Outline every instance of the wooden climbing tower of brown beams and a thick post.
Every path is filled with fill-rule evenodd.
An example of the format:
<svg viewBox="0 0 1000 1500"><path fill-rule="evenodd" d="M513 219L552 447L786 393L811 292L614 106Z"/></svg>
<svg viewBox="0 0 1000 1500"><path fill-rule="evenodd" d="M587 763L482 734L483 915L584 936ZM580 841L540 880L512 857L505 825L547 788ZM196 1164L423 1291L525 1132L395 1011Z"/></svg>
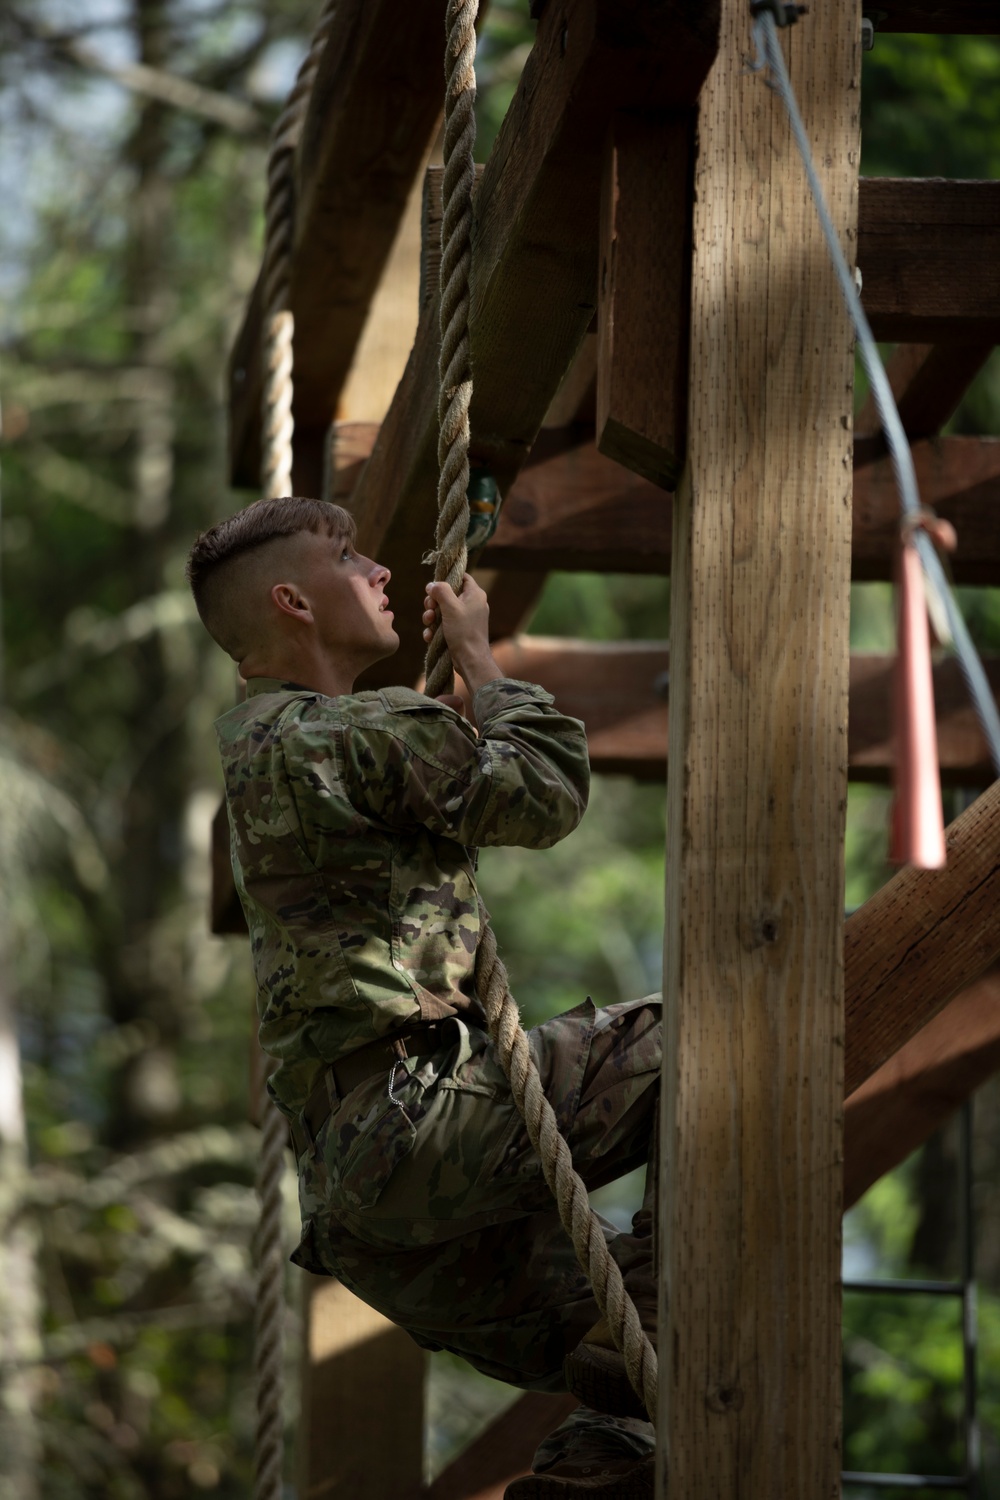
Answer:
<svg viewBox="0 0 1000 1500"><path fill-rule="evenodd" d="M594 768L667 776L661 1492L828 1500L844 1202L1000 1065L1000 798L949 830L946 872L844 924L847 777L892 760L889 662L852 658L849 588L891 576L898 501L748 4L532 14L475 196L472 447L507 496L478 576L498 658L585 720ZM939 436L1000 339L1000 183L859 183L861 21L811 0L790 74L955 576L1000 584L1000 441ZM991 32L996 6L882 0L879 24ZM294 489L325 471L411 622L363 686L423 662L442 28L442 0L342 0L297 158ZM231 362L247 488L259 344L258 285ZM519 636L550 570L670 574L670 646ZM936 690L943 774L990 783L954 663ZM342 1288L312 1302L304 1497L499 1497L565 1410L522 1398L421 1491L418 1356Z"/></svg>

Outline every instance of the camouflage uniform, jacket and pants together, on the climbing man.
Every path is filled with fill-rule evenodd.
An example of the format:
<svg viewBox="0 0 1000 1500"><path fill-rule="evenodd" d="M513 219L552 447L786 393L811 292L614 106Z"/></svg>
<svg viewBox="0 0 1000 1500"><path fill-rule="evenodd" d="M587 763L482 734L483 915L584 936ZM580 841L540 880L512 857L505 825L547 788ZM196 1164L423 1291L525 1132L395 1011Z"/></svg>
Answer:
<svg viewBox="0 0 1000 1500"><path fill-rule="evenodd" d="M295 1120L324 1076L331 1090L298 1158L292 1258L426 1348L559 1390L597 1308L483 1029L471 849L565 837L586 806L586 740L522 682L487 682L475 714L478 736L406 688L325 698L250 681L217 724L234 873L274 1100ZM445 1018L438 1053L337 1096L327 1064ZM643 1162L657 998L588 999L535 1028L531 1047L588 1186ZM631 1286L648 1282L649 1227L646 1212L630 1234L606 1227Z"/></svg>

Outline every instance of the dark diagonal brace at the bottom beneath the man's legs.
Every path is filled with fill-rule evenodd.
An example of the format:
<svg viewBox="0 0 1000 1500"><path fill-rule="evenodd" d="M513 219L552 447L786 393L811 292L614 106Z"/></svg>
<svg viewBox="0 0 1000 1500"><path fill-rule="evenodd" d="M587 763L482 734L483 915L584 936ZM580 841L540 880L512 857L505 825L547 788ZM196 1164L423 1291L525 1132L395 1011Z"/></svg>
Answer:
<svg viewBox="0 0 1000 1500"><path fill-rule="evenodd" d="M406 1500L504 1500L513 1479L531 1473L535 1449L579 1402L574 1396L528 1392L474 1438L432 1485Z"/></svg>

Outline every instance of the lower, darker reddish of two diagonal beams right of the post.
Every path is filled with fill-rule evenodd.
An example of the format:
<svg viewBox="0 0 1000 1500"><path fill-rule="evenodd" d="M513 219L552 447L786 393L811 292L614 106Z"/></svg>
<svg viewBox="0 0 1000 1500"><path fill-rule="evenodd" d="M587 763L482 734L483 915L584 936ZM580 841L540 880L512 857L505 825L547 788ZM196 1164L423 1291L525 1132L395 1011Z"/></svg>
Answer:
<svg viewBox="0 0 1000 1500"><path fill-rule="evenodd" d="M844 1209L906 1161L999 1070L1000 969L993 969L960 990L847 1100Z"/></svg>

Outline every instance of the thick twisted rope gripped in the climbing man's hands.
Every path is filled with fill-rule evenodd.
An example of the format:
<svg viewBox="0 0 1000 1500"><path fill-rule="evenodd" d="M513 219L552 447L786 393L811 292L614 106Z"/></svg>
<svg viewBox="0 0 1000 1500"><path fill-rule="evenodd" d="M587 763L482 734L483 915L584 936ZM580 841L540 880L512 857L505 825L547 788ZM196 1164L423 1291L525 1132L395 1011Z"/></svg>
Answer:
<svg viewBox="0 0 1000 1500"><path fill-rule="evenodd" d="M438 531L435 579L457 592L468 564L469 504L469 267L472 262L472 186L475 171L475 18L478 0L448 0L445 44L444 214L441 225L441 394L438 404ZM426 688L430 696L453 684L453 668L441 627L427 646ZM604 1232L592 1212L586 1186L559 1134L555 1112L544 1095L538 1068L510 993L507 969L496 951L489 914L480 900L481 938L475 956L475 984L501 1066L520 1110L528 1138L541 1161L546 1182L573 1240L577 1260L591 1280L594 1296L607 1317L625 1368L652 1419L657 1413L657 1353L646 1338L639 1312L625 1292Z"/></svg>

